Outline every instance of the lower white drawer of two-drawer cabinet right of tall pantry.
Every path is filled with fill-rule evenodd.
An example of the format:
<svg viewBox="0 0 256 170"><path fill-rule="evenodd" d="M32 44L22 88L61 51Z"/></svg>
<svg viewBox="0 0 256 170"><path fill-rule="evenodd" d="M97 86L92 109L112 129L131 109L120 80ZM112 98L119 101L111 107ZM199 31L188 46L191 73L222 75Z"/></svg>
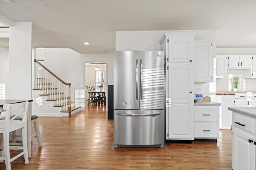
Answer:
<svg viewBox="0 0 256 170"><path fill-rule="evenodd" d="M194 123L194 138L219 138L219 123Z"/></svg>

